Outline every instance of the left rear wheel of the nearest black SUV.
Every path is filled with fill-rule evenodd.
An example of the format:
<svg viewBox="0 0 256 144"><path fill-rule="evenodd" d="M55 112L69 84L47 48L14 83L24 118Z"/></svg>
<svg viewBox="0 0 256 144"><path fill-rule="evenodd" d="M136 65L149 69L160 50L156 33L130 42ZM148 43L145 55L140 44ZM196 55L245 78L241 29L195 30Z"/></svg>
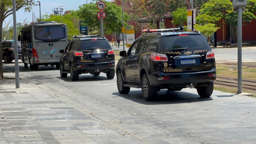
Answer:
<svg viewBox="0 0 256 144"><path fill-rule="evenodd" d="M142 95L146 101L153 101L157 96L157 87L151 86L149 78L145 73L141 79Z"/></svg>

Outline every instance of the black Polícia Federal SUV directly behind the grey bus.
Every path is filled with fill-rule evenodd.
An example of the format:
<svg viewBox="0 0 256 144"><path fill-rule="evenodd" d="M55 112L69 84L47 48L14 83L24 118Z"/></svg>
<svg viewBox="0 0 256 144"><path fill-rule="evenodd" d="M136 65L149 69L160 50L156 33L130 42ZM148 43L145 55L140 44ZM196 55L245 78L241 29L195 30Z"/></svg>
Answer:
<svg viewBox="0 0 256 144"><path fill-rule="evenodd" d="M106 73L108 79L115 76L114 50L104 37L74 36L60 57L60 76L70 73L72 81L77 81L79 74L90 73L99 76Z"/></svg>

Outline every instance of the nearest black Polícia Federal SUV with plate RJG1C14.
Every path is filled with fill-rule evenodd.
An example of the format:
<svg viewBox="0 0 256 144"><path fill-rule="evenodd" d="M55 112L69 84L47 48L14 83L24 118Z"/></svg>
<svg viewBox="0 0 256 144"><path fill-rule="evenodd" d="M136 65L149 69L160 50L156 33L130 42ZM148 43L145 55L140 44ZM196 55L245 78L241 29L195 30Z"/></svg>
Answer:
<svg viewBox="0 0 256 144"><path fill-rule="evenodd" d="M160 89L180 91L196 88L199 96L210 97L216 79L214 52L198 31L176 29L143 30L116 66L117 87L121 94L130 87L141 88L146 101Z"/></svg>

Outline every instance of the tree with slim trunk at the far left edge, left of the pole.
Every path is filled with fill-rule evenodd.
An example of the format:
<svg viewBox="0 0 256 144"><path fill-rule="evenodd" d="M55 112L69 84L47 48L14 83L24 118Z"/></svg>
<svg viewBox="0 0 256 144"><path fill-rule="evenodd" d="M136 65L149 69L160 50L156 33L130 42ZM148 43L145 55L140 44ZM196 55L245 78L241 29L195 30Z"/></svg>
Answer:
<svg viewBox="0 0 256 144"><path fill-rule="evenodd" d="M34 4L34 0L16 0L16 11L23 8L24 11L30 11L31 6ZM13 14L13 3L12 0L0 0L0 42L2 41L2 29L3 21L9 15ZM2 43L0 43L0 48ZM3 79L3 57L2 51L0 51L0 79Z"/></svg>

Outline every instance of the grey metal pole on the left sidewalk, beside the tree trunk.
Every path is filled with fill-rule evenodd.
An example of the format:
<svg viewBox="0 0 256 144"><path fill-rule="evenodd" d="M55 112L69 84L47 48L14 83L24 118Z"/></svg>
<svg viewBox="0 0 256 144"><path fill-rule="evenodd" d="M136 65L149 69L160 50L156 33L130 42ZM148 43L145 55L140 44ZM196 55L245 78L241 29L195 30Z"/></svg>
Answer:
<svg viewBox="0 0 256 144"><path fill-rule="evenodd" d="M13 0L13 39L14 39L14 59L15 59L15 84L16 84L16 88L20 88L15 0Z"/></svg>

